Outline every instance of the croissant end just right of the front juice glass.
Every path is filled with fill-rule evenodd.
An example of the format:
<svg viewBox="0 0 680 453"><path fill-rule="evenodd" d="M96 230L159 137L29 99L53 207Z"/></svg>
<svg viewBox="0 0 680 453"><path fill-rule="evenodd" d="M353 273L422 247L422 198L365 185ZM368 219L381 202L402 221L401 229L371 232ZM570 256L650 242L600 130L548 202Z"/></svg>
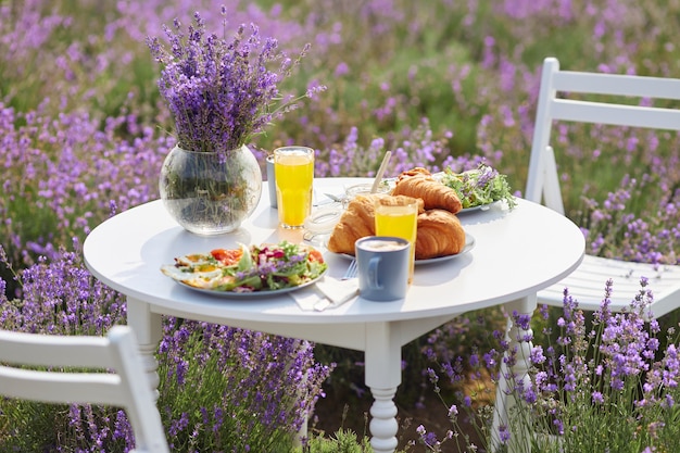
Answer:
<svg viewBox="0 0 680 453"><path fill-rule="evenodd" d="M429 210L418 215L416 260L458 254L464 247L465 230L454 214Z"/></svg>

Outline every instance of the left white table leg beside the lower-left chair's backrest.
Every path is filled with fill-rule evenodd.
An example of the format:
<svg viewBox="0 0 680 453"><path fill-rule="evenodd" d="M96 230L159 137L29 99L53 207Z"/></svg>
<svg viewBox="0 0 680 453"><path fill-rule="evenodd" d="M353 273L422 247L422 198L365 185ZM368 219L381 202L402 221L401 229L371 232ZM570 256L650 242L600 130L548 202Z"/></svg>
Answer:
<svg viewBox="0 0 680 453"><path fill-rule="evenodd" d="M153 390L153 394L158 400L161 380L159 378L159 363L155 360L155 353L163 337L161 315L151 313L149 304L128 297L127 324L135 331L144 372L147 372L149 378L149 386L151 386L151 390Z"/></svg>

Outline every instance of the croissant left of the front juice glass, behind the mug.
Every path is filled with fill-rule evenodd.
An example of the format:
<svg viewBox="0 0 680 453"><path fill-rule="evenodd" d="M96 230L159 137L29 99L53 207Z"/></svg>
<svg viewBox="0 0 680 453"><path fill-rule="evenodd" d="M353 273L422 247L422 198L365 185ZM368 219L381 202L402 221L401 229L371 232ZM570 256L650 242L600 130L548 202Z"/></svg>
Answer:
<svg viewBox="0 0 680 453"><path fill-rule="evenodd" d="M385 194L354 197L330 234L328 244L326 246L329 251L353 255L354 242L357 239L376 234L374 207L376 197L380 197L387 202L392 200L394 203L398 203L400 198L406 198L404 196L392 197ZM423 206L423 200L418 200L418 214L424 212Z"/></svg>

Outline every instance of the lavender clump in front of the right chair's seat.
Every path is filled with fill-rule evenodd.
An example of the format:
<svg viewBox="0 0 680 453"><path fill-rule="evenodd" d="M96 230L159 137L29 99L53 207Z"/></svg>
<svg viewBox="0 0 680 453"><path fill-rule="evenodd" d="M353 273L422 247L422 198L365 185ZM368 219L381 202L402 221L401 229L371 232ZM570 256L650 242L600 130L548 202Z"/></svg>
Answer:
<svg viewBox="0 0 680 453"><path fill-rule="evenodd" d="M601 310L593 314L592 329L578 302L565 290L557 347L549 345L544 351L536 347L527 357L533 365L532 385L515 387L527 406L511 424L513 429L522 429L530 423L532 429L554 433L558 438L555 449L564 450L547 444L533 448L576 451L588 445L596 451L628 451L630 442L658 445L676 439L677 430L667 430L663 421L672 417L678 395L676 345L670 343L659 351L655 337L658 323L644 320L652 302L648 282L643 278L640 285L629 310L612 314L608 298L613 281L608 280ZM615 430L607 428L613 426ZM600 436L603 429L609 429L607 439Z"/></svg>

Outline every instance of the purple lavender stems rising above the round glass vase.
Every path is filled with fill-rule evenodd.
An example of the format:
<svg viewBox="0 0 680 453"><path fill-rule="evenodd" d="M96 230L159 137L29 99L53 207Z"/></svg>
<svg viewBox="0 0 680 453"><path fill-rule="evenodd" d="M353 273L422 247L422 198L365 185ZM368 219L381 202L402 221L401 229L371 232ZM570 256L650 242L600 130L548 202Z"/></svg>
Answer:
<svg viewBox="0 0 680 453"><path fill-rule="evenodd" d="M222 9L226 16L226 9ZM159 89L173 118L181 148L201 152L227 152L247 144L276 117L293 110L299 99L284 97L278 85L290 76L293 66L306 54L305 46L292 61L278 49L273 38L264 41L251 24L241 25L229 40L227 20L224 35L209 34L197 12L185 34L181 23L174 32L165 27L169 49L158 37L148 38L152 55L163 64ZM276 71L270 70L278 64ZM304 96L311 97L312 89Z"/></svg>

